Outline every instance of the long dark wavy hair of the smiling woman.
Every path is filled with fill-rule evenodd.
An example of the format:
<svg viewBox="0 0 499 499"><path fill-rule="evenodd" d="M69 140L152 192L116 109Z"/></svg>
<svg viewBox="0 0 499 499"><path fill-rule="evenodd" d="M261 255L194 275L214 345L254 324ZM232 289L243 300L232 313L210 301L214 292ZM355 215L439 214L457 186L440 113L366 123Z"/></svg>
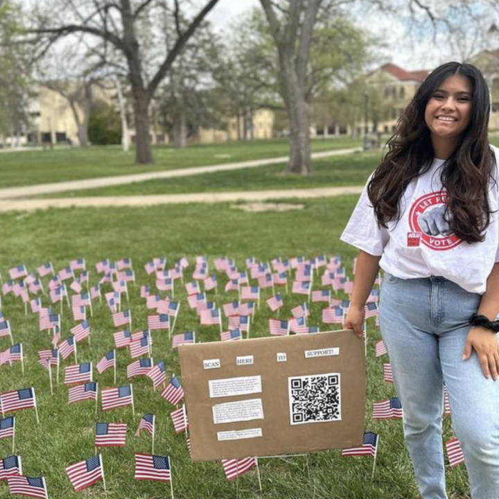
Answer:
<svg viewBox="0 0 499 499"><path fill-rule="evenodd" d="M441 182L448 193L446 220L467 243L484 240L491 210L487 193L495 160L489 146L489 89L482 73L471 64L447 62L432 71L417 90L387 142L388 152L367 186L378 225L401 217L401 198L408 184L432 165L433 148L425 122L428 100L446 78L460 75L472 89L471 119L455 151L441 168Z"/></svg>

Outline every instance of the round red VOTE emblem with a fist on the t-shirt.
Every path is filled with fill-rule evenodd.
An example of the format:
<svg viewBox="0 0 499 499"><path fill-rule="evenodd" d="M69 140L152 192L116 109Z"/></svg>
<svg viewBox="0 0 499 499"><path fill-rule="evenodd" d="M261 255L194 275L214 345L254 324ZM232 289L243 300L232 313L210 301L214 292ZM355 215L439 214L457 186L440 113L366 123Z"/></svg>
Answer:
<svg viewBox="0 0 499 499"><path fill-rule="evenodd" d="M460 245L445 216L448 195L445 191L426 194L412 204L409 211L409 227L412 232L421 233L421 244L444 251Z"/></svg>

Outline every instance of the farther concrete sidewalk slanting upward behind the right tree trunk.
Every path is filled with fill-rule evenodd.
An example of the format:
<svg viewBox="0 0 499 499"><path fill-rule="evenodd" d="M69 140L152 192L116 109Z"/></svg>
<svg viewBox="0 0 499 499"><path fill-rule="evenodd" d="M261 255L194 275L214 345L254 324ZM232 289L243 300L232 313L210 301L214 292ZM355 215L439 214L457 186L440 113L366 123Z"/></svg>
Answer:
<svg viewBox="0 0 499 499"><path fill-rule="evenodd" d="M338 149L324 152L315 152L313 159L338 156L358 152L362 148ZM256 168L268 164L286 163L288 156L269 159L256 159L253 161L240 161L238 163L218 164L212 166L194 166L193 168L178 168L177 170L166 170L149 173L136 173L132 175L117 175L116 177L101 177L88 180L71 180L69 182L54 182L51 184L37 184L33 186L11 187L0 189L0 200L29 198L30 196L42 194L54 194L67 191L82 191L85 189L98 189L99 187L132 184L146 180L156 180L175 177L187 177L189 175L200 175L202 173L213 173L218 171L239 170L240 168Z"/></svg>

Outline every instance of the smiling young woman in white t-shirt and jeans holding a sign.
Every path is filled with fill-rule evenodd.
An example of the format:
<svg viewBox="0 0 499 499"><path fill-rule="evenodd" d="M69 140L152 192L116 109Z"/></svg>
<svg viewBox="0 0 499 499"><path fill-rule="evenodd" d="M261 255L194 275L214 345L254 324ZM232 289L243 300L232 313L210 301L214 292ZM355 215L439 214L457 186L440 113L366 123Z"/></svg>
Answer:
<svg viewBox="0 0 499 499"><path fill-rule="evenodd" d="M487 138L489 107L475 67L432 71L342 234L360 249L344 320L360 338L384 270L380 331L425 499L447 498L444 383L471 497L499 498L499 150Z"/></svg>

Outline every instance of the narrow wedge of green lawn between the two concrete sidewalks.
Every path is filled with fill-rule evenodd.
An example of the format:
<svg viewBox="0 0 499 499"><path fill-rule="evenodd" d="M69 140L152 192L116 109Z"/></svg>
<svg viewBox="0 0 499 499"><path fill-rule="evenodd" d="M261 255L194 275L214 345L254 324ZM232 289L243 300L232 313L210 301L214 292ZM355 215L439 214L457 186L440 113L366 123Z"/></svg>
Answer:
<svg viewBox="0 0 499 499"><path fill-rule="evenodd" d="M121 186L102 187L55 194L42 198L71 196L180 194L224 191L265 191L311 187L362 185L380 161L380 152L355 152L313 161L313 175L289 175L284 164L243 168L225 172L149 180Z"/></svg>

